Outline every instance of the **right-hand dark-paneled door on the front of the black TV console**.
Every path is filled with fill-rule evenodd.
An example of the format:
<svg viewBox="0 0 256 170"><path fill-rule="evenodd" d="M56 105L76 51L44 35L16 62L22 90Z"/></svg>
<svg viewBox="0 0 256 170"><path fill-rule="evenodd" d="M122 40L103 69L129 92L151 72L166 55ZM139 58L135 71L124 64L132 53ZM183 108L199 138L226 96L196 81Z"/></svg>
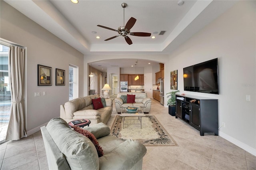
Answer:
<svg viewBox="0 0 256 170"><path fill-rule="evenodd" d="M194 105L190 104L190 125L193 127L197 128L198 130L200 129L200 106L199 105Z"/></svg>

